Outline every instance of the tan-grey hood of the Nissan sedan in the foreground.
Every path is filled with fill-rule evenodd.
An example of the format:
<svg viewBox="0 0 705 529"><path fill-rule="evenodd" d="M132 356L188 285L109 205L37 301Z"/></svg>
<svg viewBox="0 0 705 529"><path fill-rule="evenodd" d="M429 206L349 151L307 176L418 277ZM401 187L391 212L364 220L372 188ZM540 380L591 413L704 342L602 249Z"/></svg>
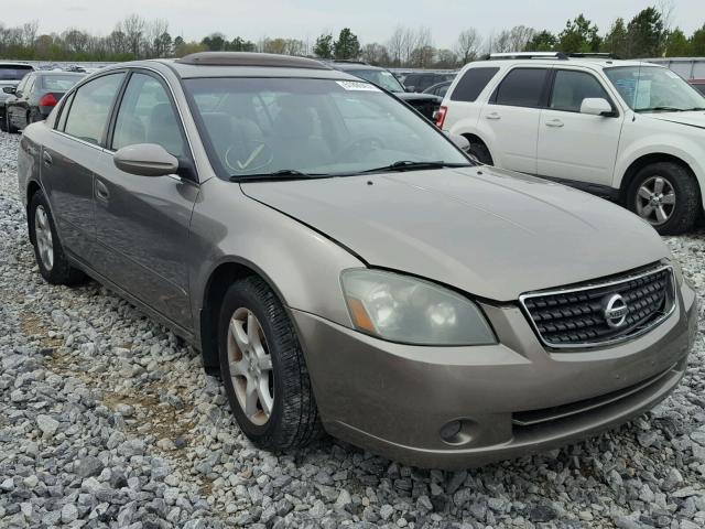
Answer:
<svg viewBox="0 0 705 529"><path fill-rule="evenodd" d="M371 267L497 301L670 256L615 204L487 166L241 185Z"/></svg>

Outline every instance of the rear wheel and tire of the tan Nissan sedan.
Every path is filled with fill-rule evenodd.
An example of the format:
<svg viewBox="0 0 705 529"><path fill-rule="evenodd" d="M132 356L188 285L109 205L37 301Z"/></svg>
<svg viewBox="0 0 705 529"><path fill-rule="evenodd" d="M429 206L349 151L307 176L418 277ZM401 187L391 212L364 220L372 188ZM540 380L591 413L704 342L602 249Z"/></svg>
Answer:
<svg viewBox="0 0 705 529"><path fill-rule="evenodd" d="M28 209L30 237L34 246L34 258L42 277L52 284L77 284L86 279L78 269L70 266L62 247L54 217L44 193L37 191Z"/></svg>

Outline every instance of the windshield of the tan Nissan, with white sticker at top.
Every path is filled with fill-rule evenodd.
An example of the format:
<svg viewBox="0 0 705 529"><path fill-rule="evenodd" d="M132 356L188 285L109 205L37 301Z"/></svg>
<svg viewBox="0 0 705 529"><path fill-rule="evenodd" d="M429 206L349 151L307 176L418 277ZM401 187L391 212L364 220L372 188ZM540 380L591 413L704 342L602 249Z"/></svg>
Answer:
<svg viewBox="0 0 705 529"><path fill-rule="evenodd" d="M185 86L212 163L228 177L470 163L433 126L369 83L235 77L185 79Z"/></svg>

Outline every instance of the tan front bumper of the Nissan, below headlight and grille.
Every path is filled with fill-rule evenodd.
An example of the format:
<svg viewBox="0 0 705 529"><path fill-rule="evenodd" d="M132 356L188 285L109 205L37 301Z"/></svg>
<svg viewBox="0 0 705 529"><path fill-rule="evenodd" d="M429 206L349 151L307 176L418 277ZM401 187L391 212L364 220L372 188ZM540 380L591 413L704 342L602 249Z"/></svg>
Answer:
<svg viewBox="0 0 705 529"><path fill-rule="evenodd" d="M392 344L293 310L324 428L422 467L541 452L621 424L665 398L685 371L697 325L686 284L661 325L604 349L550 352L518 306L482 310L498 345ZM444 440L452 421L460 431Z"/></svg>

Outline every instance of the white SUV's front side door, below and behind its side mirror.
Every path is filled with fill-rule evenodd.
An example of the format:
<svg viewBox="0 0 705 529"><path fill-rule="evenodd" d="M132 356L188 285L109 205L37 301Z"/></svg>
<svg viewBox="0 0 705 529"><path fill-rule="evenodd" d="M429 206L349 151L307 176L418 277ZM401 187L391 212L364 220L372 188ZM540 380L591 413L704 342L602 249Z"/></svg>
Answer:
<svg viewBox="0 0 705 529"><path fill-rule="evenodd" d="M623 114L590 72L556 68L539 126L541 176L611 185ZM614 116L581 114L585 98L603 98Z"/></svg>

